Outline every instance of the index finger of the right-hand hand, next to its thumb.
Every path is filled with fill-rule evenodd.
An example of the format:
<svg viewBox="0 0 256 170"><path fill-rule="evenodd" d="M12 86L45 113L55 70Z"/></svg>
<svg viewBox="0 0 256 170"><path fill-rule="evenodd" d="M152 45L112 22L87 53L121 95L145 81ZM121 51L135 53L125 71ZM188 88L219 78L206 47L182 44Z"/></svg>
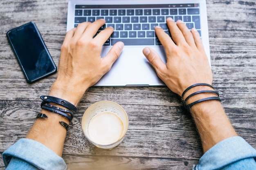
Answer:
<svg viewBox="0 0 256 170"><path fill-rule="evenodd" d="M155 26L155 34L157 35L157 38L159 39L161 44L164 46L166 52L169 52L169 47L175 46L175 43L173 42L171 37L166 34L160 26Z"/></svg>

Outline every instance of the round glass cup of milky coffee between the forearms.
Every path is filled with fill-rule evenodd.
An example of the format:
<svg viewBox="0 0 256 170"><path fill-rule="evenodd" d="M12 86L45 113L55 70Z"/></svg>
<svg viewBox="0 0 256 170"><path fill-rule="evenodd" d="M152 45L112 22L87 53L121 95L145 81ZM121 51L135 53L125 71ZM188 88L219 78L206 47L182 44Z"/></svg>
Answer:
<svg viewBox="0 0 256 170"><path fill-rule="evenodd" d="M119 145L126 135L128 124L124 108L110 101L92 104L83 114L81 122L88 141L103 149Z"/></svg>

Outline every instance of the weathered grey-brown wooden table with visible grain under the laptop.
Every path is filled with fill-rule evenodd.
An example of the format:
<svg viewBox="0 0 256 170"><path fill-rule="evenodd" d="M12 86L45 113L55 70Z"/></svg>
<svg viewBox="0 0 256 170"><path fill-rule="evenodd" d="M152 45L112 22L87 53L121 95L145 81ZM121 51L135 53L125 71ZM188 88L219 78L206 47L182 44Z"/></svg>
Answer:
<svg viewBox="0 0 256 170"><path fill-rule="evenodd" d="M256 3L255 0L207 0L213 86L238 132L256 148ZM0 0L0 169L2 152L25 137L40 112L56 75L25 82L6 32L34 21L58 64L66 32L67 0ZM83 136L81 118L91 104L110 100L130 120L124 141L102 150ZM193 119L166 86L91 87L79 104L67 133L63 159L71 170L110 164L130 169L191 170L202 156Z"/></svg>

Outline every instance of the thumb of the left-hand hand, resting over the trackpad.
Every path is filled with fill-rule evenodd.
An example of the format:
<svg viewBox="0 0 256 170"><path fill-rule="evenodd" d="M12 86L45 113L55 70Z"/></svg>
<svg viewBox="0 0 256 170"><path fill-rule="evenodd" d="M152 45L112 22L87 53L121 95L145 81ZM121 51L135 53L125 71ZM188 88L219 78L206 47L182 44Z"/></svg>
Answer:
<svg viewBox="0 0 256 170"><path fill-rule="evenodd" d="M124 43L123 42L117 42L116 44L114 44L112 46L110 51L108 51L108 54L101 59L102 63L103 63L103 71L105 73L110 70L112 64L120 56L123 48L124 48Z"/></svg>

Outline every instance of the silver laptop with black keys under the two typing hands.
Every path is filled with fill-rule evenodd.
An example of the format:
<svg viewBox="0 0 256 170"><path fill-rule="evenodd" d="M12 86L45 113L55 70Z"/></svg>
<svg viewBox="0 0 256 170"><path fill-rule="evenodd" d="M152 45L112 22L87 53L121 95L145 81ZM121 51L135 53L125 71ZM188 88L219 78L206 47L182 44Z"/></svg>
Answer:
<svg viewBox="0 0 256 170"><path fill-rule="evenodd" d="M168 17L182 20L189 29L198 30L211 65L206 0L69 0L67 31L81 22L103 18L106 24L99 31L112 26L114 32L103 45L101 56L116 42L125 44L111 70L94 86L161 86L165 84L142 50L150 47L166 62L154 27L159 25L170 35L166 26Z"/></svg>

